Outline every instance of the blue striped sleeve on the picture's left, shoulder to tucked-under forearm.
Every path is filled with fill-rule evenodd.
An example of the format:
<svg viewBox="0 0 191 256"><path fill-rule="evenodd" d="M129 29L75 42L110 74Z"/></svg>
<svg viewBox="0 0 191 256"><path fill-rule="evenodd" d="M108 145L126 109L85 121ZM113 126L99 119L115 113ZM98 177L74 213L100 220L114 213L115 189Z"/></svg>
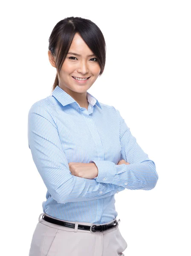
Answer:
<svg viewBox="0 0 191 256"><path fill-rule="evenodd" d="M71 174L49 106L34 104L28 114L28 142L35 166L58 203L89 201L117 192L118 186Z"/></svg>

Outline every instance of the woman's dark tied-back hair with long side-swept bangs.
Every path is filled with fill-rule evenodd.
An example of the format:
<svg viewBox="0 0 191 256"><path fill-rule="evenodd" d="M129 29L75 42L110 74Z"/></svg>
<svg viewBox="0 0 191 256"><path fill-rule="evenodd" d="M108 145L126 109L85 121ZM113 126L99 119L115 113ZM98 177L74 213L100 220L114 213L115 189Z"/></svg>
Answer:
<svg viewBox="0 0 191 256"><path fill-rule="evenodd" d="M69 51L69 47L72 44L72 40L76 32L81 35L85 43L96 55L98 64L101 68L99 76L101 76L104 71L106 62L106 44L101 30L91 20L81 17L67 17L64 20L60 20L55 25L49 37L48 49L56 58L55 61L57 70L52 91L58 85L58 74L60 74L62 64L66 58L67 52Z"/></svg>

